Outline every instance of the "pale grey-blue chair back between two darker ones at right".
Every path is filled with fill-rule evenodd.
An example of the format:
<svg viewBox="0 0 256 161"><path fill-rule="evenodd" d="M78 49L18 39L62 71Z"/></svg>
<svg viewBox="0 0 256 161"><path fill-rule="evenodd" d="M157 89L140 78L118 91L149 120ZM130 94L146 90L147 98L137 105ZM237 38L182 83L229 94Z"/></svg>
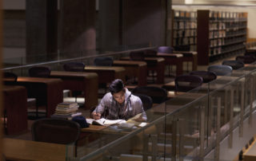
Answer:
<svg viewBox="0 0 256 161"><path fill-rule="evenodd" d="M217 76L226 76L230 75L233 69L229 65L210 65L207 70L214 72Z"/></svg>

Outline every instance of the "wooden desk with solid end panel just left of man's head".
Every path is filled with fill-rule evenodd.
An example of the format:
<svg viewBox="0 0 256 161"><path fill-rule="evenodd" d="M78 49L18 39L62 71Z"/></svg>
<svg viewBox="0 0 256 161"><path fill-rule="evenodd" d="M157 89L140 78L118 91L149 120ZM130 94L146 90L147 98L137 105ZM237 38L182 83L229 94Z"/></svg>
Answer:
<svg viewBox="0 0 256 161"><path fill-rule="evenodd" d="M83 91L84 108L90 109L98 104L98 75L96 73L52 71L50 77L61 78L64 89Z"/></svg>

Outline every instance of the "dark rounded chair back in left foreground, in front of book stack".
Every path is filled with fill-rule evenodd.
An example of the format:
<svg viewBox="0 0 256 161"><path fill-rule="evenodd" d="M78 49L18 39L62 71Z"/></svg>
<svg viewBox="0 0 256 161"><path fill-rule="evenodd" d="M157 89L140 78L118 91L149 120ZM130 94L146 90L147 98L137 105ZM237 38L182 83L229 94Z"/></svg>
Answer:
<svg viewBox="0 0 256 161"><path fill-rule="evenodd" d="M35 120L31 126L32 139L46 143L75 143L80 125L72 120L45 118Z"/></svg>

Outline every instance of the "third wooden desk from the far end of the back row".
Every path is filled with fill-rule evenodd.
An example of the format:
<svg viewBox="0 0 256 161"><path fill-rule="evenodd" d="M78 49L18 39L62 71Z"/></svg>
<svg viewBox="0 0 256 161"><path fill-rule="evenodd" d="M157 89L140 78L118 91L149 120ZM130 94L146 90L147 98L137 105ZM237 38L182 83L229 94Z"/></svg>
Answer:
<svg viewBox="0 0 256 161"><path fill-rule="evenodd" d="M130 61L130 57L121 57L121 61ZM157 83L163 84L165 78L165 59L162 57L145 57L147 71L156 71Z"/></svg>

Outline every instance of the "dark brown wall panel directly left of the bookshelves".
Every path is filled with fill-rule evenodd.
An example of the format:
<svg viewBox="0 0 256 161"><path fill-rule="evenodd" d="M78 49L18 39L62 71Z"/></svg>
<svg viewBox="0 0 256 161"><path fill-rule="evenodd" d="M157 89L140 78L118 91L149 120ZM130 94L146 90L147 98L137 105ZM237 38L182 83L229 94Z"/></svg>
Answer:
<svg viewBox="0 0 256 161"><path fill-rule="evenodd" d="M126 0L123 2L123 43L165 45L166 1Z"/></svg>

